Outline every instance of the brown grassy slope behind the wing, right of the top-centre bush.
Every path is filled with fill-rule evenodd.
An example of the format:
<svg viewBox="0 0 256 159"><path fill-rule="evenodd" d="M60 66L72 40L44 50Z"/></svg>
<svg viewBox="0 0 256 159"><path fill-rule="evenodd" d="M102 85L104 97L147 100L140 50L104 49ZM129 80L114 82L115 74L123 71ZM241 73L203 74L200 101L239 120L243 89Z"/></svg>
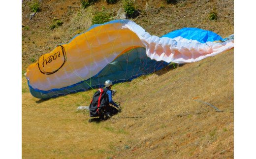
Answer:
<svg viewBox="0 0 256 159"><path fill-rule="evenodd" d="M144 8L137 3L142 14L134 22L153 35L162 36L185 27L210 30L223 37L234 32L233 0L179 0L176 4L168 5L165 0L149 0L148 4ZM218 20L208 18L213 8L218 8Z"/></svg>

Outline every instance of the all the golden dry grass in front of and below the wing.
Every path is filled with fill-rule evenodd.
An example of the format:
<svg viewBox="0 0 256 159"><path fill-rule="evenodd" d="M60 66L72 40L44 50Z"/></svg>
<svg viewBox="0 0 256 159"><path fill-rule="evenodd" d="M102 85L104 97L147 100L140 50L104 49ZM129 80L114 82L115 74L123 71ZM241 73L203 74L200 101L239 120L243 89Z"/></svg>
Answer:
<svg viewBox="0 0 256 159"><path fill-rule="evenodd" d="M233 158L233 50L114 85L122 112L99 124L76 111L94 90L41 101L22 83L23 158Z"/></svg>

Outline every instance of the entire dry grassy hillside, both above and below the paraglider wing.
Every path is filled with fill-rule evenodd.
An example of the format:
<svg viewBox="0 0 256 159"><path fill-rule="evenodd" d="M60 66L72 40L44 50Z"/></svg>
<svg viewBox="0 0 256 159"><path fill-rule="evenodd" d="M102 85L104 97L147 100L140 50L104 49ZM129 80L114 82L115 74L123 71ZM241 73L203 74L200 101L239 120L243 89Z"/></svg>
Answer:
<svg viewBox="0 0 256 159"><path fill-rule="evenodd" d="M85 32L96 10L116 14L122 6L99 0L86 9L80 0L42 0L29 20L22 3L22 70L40 55ZM141 14L131 19L152 35L184 27L233 33L233 1L135 0ZM209 20L216 7L219 18ZM51 30L53 19L64 24ZM88 123L95 90L40 100L33 97L22 74L22 158L233 158L233 49L192 64L170 65L131 82L113 86L122 110L110 120ZM223 112L217 112L210 103Z"/></svg>

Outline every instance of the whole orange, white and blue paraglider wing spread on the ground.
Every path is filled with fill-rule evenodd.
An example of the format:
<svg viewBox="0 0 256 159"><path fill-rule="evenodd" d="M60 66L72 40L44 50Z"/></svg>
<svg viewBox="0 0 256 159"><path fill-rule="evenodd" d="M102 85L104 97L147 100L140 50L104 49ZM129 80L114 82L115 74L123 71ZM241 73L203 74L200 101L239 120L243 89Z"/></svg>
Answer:
<svg viewBox="0 0 256 159"><path fill-rule="evenodd" d="M132 21L114 20L42 55L26 78L33 96L51 98L100 88L105 80L130 81L170 62L197 62L231 48L233 39L224 41L210 31L185 28L158 37Z"/></svg>

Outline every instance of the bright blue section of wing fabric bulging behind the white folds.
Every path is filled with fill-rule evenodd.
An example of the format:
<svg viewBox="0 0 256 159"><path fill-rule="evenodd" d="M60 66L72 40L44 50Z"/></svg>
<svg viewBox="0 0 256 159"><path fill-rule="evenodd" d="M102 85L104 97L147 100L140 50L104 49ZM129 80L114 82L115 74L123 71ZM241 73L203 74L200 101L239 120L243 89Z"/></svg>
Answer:
<svg viewBox="0 0 256 159"><path fill-rule="evenodd" d="M198 29L198 28L183 28L180 30L169 32L161 37L174 38L177 36L181 36L186 39L197 40L201 43L206 43L208 41L223 40L223 38L217 33Z"/></svg>

